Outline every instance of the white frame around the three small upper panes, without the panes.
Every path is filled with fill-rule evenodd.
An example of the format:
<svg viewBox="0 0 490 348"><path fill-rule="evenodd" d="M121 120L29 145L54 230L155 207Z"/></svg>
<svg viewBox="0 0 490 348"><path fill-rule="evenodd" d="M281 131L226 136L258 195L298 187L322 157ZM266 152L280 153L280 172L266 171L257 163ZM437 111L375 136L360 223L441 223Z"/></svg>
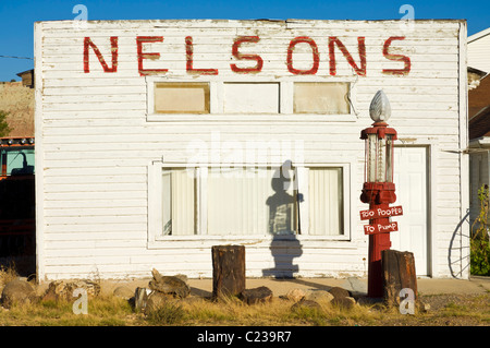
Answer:
<svg viewBox="0 0 490 348"><path fill-rule="evenodd" d="M172 80L162 76L145 76L146 82L146 120L147 122L175 121L271 121L271 122L355 122L357 120L357 79L355 76L339 76L324 79L322 76L283 76L250 79L217 79L216 76L199 76L193 80ZM155 88L158 83L209 83L209 113L161 113L155 112ZM225 113L224 84L225 83L278 83L279 112L278 113ZM350 113L294 113L294 83L347 83L350 98Z"/></svg>

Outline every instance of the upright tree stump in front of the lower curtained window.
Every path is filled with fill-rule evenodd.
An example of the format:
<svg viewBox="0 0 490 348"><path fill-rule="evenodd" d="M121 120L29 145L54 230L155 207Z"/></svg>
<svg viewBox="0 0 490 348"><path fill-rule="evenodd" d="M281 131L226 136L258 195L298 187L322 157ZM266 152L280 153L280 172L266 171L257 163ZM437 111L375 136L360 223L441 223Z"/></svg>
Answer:
<svg viewBox="0 0 490 348"><path fill-rule="evenodd" d="M212 296L238 296L245 290L245 247L213 245Z"/></svg>

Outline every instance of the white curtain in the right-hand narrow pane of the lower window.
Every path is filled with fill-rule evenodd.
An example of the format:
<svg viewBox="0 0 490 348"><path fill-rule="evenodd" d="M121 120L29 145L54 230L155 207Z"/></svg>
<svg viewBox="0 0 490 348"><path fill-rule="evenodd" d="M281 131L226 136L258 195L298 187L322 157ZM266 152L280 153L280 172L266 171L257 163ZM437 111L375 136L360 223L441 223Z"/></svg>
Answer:
<svg viewBox="0 0 490 348"><path fill-rule="evenodd" d="M339 236L342 226L342 168L309 168L309 235Z"/></svg>

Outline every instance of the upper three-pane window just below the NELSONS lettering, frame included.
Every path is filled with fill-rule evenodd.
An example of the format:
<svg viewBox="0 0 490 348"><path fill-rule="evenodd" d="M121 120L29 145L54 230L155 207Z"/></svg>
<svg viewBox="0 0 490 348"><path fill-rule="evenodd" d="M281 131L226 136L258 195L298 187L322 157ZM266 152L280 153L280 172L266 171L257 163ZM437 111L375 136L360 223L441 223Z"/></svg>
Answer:
<svg viewBox="0 0 490 348"><path fill-rule="evenodd" d="M356 88L347 77L324 82L162 81L146 76L147 121L342 121L356 120ZM203 82L199 82L203 81Z"/></svg>

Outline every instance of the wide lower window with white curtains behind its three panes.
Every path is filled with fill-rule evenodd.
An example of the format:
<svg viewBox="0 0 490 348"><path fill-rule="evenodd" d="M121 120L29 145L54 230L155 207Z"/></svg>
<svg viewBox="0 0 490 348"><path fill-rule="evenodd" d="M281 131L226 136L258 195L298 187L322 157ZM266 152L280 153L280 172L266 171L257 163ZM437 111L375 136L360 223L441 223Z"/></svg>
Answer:
<svg viewBox="0 0 490 348"><path fill-rule="evenodd" d="M196 235L345 236L345 168L154 165L150 233L154 240Z"/></svg>

